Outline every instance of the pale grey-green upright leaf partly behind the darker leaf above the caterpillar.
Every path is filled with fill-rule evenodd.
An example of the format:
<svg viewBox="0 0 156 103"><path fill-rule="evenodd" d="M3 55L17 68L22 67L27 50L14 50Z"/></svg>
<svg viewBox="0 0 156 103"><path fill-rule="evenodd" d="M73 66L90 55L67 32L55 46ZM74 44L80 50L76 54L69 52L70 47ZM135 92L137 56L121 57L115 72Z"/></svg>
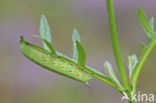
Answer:
<svg viewBox="0 0 156 103"><path fill-rule="evenodd" d="M77 62L78 61L78 51L76 47L76 41L80 42L80 35L77 31L77 29L74 29L72 34L72 40L73 40L73 59Z"/></svg>

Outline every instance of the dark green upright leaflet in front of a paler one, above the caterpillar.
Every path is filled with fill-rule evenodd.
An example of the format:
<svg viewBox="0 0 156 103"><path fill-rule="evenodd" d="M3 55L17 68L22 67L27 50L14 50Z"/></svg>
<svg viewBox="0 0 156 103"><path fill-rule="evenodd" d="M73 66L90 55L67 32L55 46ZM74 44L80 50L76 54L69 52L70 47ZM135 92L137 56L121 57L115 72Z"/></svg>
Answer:
<svg viewBox="0 0 156 103"><path fill-rule="evenodd" d="M77 47L77 52L78 52L78 64L81 66L84 66L85 61L86 61L85 50L79 41L76 41L76 47Z"/></svg>

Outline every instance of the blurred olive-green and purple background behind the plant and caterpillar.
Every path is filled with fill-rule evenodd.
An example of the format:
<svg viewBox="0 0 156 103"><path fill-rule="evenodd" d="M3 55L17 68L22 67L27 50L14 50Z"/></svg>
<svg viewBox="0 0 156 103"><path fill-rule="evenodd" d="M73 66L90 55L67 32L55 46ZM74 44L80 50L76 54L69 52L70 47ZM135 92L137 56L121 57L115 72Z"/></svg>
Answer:
<svg viewBox="0 0 156 103"><path fill-rule="evenodd" d="M155 0L114 0L118 37L127 70L127 56L141 53L146 36L137 20L137 7L156 17ZM92 89L57 75L25 58L20 35L39 34L40 15L46 15L54 47L72 57L72 32L77 28L87 52L87 64L104 72L103 62L115 61L111 48L105 0L0 0L0 103L120 103L121 95L94 79ZM139 77L137 90L156 94L156 48Z"/></svg>

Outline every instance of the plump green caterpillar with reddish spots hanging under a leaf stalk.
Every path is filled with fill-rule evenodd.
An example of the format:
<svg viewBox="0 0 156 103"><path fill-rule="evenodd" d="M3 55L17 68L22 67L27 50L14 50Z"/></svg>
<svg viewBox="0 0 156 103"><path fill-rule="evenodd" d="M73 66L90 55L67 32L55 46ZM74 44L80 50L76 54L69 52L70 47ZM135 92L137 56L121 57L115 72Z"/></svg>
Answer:
<svg viewBox="0 0 156 103"><path fill-rule="evenodd" d="M89 80L93 79L90 74L81 71L74 61L59 56L56 53L50 53L40 46L25 41L23 37L20 40L20 50L24 56L34 63L58 74L83 83L88 83Z"/></svg>

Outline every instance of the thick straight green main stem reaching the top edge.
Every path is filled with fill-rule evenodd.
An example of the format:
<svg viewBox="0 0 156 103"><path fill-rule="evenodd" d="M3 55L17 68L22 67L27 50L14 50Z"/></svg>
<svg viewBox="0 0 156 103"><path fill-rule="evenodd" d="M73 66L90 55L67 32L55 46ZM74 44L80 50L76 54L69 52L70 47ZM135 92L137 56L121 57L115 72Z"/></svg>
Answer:
<svg viewBox="0 0 156 103"><path fill-rule="evenodd" d="M120 76L123 86L129 89L129 83L127 80L126 72L125 72L123 62L121 59L121 55L120 55L120 47L119 47L118 38L117 38L117 30L116 30L112 0L106 0L106 4L107 4L110 34L111 34L111 39L112 39L112 47L114 51L116 64L118 67L119 76Z"/></svg>

